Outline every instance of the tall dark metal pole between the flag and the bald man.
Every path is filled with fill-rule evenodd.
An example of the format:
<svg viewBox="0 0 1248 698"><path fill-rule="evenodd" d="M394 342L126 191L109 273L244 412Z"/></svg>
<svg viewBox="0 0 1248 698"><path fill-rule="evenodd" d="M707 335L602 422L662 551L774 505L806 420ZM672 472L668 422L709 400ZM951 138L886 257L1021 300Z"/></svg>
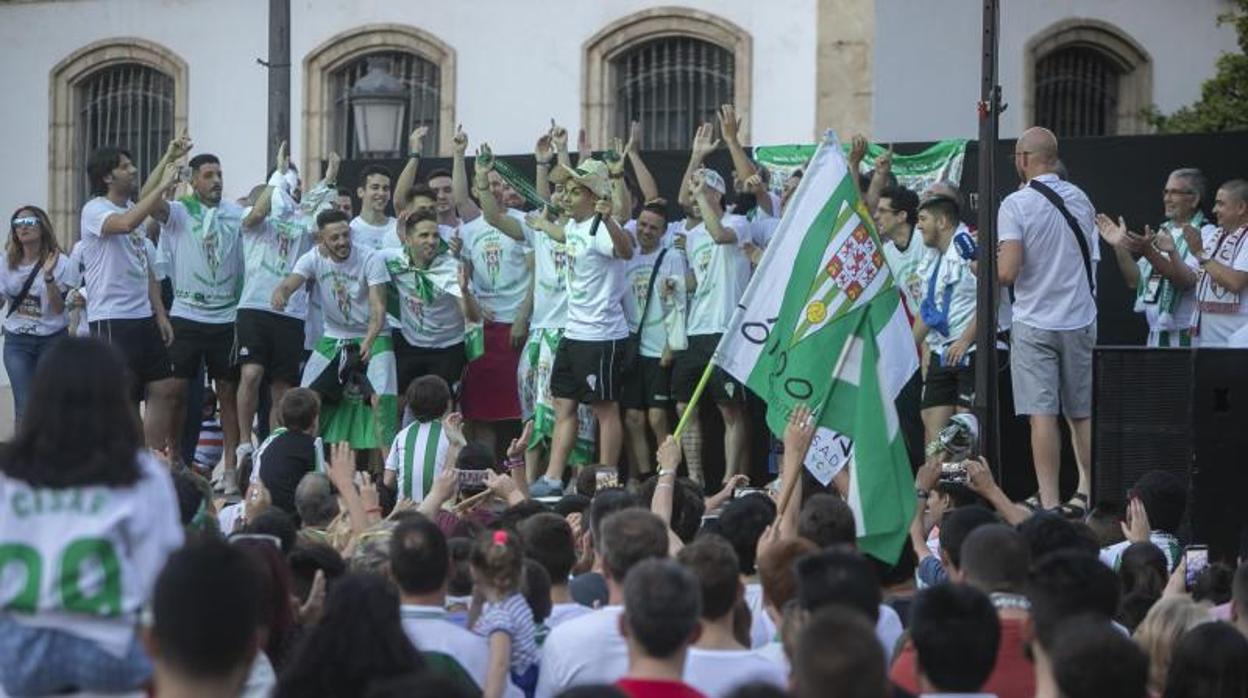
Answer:
<svg viewBox="0 0 1248 698"><path fill-rule="evenodd" d="M997 84L1000 0L983 0L983 69L980 82L978 280L975 345L975 415L980 420L980 453L1001 482L1001 422L997 392L997 121L1001 86Z"/></svg>

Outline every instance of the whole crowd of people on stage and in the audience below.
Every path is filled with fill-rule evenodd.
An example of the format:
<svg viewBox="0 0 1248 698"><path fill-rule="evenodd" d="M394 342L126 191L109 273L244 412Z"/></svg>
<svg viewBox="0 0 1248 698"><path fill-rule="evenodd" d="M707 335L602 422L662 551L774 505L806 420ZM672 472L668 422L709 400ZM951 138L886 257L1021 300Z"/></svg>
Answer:
<svg viewBox="0 0 1248 698"><path fill-rule="evenodd" d="M977 330L961 195L900 186L890 154L856 180L914 318L921 393L902 407L929 443L910 542L877 559L844 482L806 471L805 406L774 481L748 487L769 435L711 358L801 172L770 182L731 106L719 121L674 204L635 129L573 161L552 124L532 182L484 144L469 167L463 131L422 180L418 129L403 171L366 167L354 197L336 156L305 191L282 144L231 202L183 134L141 189L126 151L92 154L69 255L20 207L4 691L1248 696L1248 567L1181 543L1184 484L1151 472L1126 503L1090 502L1097 230L1151 343L1232 346L1248 184L1222 185L1201 230L1203 180L1178 170L1167 221L1138 235L1058 176L1052 134L1020 137L993 347L1031 422L1040 487L1016 503L952 457ZM720 145L730 177L705 166ZM723 465L695 413L673 436L700 382ZM1065 502L1060 416L1080 466Z"/></svg>

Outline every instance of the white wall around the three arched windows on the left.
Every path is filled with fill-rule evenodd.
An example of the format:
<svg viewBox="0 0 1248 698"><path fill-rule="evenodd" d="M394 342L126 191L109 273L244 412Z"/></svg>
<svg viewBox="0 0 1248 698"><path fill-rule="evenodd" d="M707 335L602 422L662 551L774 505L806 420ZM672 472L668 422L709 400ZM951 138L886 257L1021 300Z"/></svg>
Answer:
<svg viewBox="0 0 1248 698"><path fill-rule="evenodd" d="M456 120L498 152L529 152L552 116L579 127L582 46L612 21L665 2L641 0L295 0L291 135L302 152L302 62L348 29L419 26L457 54ZM0 210L47 199L49 74L81 46L139 36L190 66L188 119L197 151L222 159L226 196L260 181L266 162L268 10L263 0L76 0L0 5L4 100ZM809 141L815 131L815 0L684 0L754 37L755 142ZM594 144L599 146L602 144Z"/></svg>

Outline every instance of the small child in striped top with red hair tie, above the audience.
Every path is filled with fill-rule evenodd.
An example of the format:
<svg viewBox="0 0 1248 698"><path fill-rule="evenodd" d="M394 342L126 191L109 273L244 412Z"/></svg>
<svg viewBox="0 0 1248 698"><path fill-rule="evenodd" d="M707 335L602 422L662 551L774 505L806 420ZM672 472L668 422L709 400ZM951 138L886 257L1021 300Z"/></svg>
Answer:
<svg viewBox="0 0 1248 698"><path fill-rule="evenodd" d="M529 698L538 683L538 643L533 611L520 594L524 552L508 531L484 533L473 547L472 576L485 599L473 626L489 639L489 671L483 696L499 698L510 681Z"/></svg>

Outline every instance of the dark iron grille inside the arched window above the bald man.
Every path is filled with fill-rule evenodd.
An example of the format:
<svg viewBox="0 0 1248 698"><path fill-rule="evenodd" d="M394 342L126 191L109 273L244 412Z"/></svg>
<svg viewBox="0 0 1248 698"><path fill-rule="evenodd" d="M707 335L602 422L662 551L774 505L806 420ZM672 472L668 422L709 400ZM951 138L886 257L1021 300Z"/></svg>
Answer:
<svg viewBox="0 0 1248 698"><path fill-rule="evenodd" d="M1117 131L1118 66L1087 46L1053 51L1036 64L1036 125L1058 137Z"/></svg>

